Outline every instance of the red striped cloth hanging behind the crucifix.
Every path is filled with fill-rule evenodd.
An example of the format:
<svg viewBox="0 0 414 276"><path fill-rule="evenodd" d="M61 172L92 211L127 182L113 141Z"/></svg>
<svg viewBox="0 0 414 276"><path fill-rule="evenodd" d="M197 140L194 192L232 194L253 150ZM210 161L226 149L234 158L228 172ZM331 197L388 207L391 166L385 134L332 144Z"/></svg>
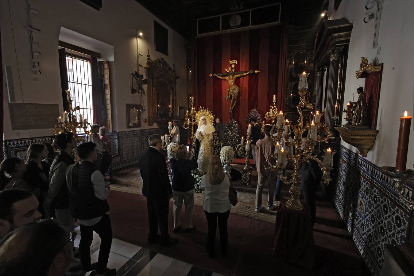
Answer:
<svg viewBox="0 0 414 276"><path fill-rule="evenodd" d="M259 74L249 74L236 79L240 88L233 117L241 124L243 135L247 130L247 115L257 108L264 116L272 105L273 95L277 95L280 106L284 86L279 83L285 77L279 59L281 56L282 26L271 26L262 29L241 31L230 34L219 34L196 38L193 40L193 57L195 77L193 88L196 107L203 106L221 115L225 124L230 119L227 95L229 84L226 80L209 77L212 73L225 72L229 68L229 60L237 60L236 72L259 70ZM283 89L282 89L283 88ZM279 99L280 98L280 99Z"/></svg>

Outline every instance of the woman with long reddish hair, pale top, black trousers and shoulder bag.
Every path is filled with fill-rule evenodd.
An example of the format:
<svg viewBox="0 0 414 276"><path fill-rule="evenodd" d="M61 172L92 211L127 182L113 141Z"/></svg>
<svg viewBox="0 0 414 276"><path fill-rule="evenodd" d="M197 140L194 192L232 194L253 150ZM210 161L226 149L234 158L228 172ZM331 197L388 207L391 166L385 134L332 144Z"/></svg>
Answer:
<svg viewBox="0 0 414 276"><path fill-rule="evenodd" d="M223 171L220 157L213 155L210 158L207 174L201 179L201 189L204 190L204 212L207 218L207 253L214 256L216 229L219 225L221 254L227 255L227 219L230 215L230 177Z"/></svg>

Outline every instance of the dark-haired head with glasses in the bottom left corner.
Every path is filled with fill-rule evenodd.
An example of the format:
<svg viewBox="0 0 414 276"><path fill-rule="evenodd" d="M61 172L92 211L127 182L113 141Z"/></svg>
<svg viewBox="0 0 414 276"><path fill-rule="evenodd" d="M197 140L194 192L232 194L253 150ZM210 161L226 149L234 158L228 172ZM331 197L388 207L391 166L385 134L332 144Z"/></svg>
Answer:
<svg viewBox="0 0 414 276"><path fill-rule="evenodd" d="M17 228L0 242L0 276L65 275L75 236L54 219Z"/></svg>

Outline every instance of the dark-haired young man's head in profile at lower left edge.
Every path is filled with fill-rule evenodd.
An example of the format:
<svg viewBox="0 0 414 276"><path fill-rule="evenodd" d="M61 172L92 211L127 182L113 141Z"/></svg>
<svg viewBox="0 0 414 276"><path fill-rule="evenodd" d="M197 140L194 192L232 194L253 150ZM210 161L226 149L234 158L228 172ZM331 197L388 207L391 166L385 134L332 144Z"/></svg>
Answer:
<svg viewBox="0 0 414 276"><path fill-rule="evenodd" d="M16 228L41 218L39 202L32 192L9 189L0 192L0 239Z"/></svg>

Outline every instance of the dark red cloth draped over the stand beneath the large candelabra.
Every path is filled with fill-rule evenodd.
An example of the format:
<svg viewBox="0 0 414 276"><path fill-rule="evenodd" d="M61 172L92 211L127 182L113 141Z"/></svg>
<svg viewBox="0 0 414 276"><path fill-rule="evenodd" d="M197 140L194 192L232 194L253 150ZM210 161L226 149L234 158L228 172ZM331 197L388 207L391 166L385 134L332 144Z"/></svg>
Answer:
<svg viewBox="0 0 414 276"><path fill-rule="evenodd" d="M279 260L308 269L315 263L315 244L306 205L296 211L280 202L274 227L272 250Z"/></svg>

